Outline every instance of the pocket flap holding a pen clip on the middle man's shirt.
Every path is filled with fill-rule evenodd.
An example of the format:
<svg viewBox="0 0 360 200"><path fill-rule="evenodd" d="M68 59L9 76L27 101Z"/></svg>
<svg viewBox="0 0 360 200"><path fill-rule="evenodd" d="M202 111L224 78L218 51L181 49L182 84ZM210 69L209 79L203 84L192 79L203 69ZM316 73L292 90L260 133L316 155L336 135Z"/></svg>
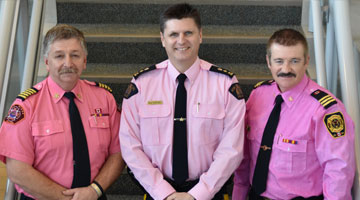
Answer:
<svg viewBox="0 0 360 200"><path fill-rule="evenodd" d="M192 106L192 114L194 117L223 119L225 110L219 104L195 104Z"/></svg>

